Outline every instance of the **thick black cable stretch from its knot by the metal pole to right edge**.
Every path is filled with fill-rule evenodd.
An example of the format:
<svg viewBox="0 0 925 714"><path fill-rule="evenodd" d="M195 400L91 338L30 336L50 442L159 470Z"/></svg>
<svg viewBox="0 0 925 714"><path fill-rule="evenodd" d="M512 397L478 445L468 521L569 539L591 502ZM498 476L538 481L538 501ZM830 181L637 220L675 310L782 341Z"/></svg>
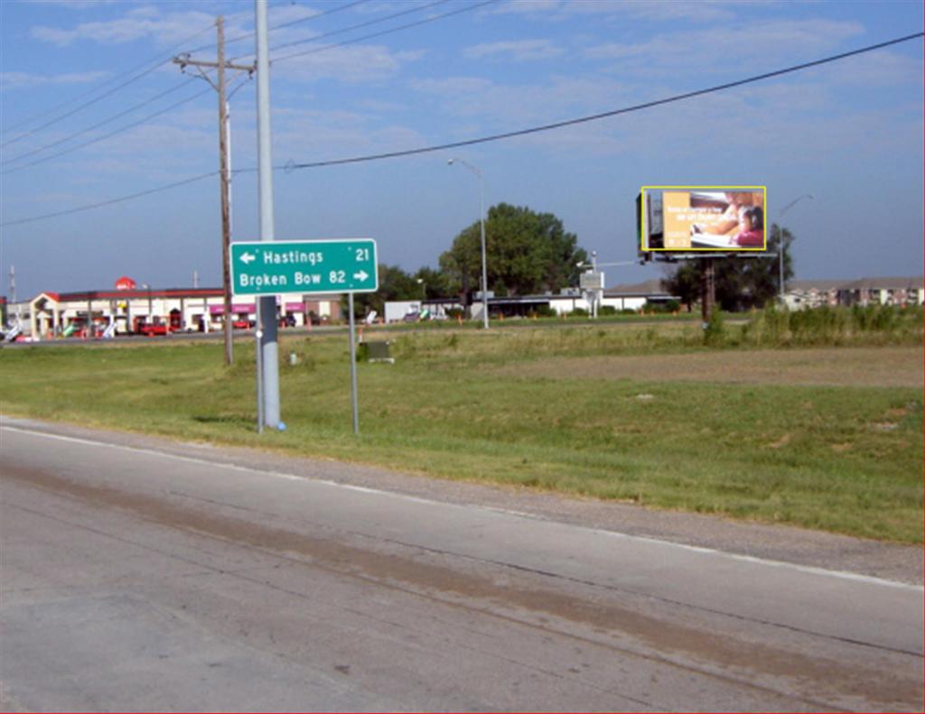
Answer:
<svg viewBox="0 0 925 714"><path fill-rule="evenodd" d="M571 127L575 124L585 124L589 121L597 121L598 119L605 119L609 117L618 117L622 114L630 114L631 112L638 112L643 109L650 109L654 106L668 105L673 102L680 102L685 99L692 99L693 97L703 96L704 94L710 94L713 92L722 92L723 90L732 89L734 87L741 87L745 84L751 84L756 81L769 80L772 77L780 77L784 74L790 74L792 72L797 72L802 69L808 69L813 67L819 67L820 65L825 65L830 62L836 62L840 59L845 59L846 57L851 57L855 55L862 55L866 52L872 52L874 50L882 49L883 47L889 47L893 44L905 43L909 40L915 40L917 38L925 35L925 32L917 32L916 34L907 35L906 37L900 37L895 40L890 40L885 43L871 44L867 47L862 47L858 50L852 50L851 52L844 52L840 55L832 55L829 57L824 57L823 59L817 59L812 62L804 62L803 64L794 65L793 67L788 67L784 69L777 69L772 72L766 72L764 74L755 75L754 77L748 77L745 80L737 80L726 82L724 84L717 84L714 87L709 87L707 89L696 90L694 92L685 92L684 94L675 94L671 97L665 97L664 99L656 99L651 102L645 102L639 105L626 106L622 109L613 109L609 112L601 112L600 114L592 114L587 117L578 117L574 119L565 119L564 121L557 121L552 124L543 124L538 127L531 127L530 129L517 129L515 131L506 131L501 134L492 134L490 136L479 137L477 139L467 139L462 142L450 142L444 144L438 144L436 146L425 146L418 149L406 149L404 151L398 152L388 152L386 154L370 154L366 156L355 156L352 158L346 159L331 159L329 161L314 161L307 164L288 164L286 166L277 166L277 168L284 168L287 171L294 171L299 168L318 168L321 166L340 166L343 164L359 164L365 161L378 161L381 159L390 159L398 158L400 156L411 156L413 154L427 154L430 152L443 151L445 149L456 149L461 146L473 146L474 144L487 143L487 142L498 142L501 139L513 139L514 137L526 136L527 134L536 134L540 131L549 131L551 129L562 129L563 127ZM253 170L253 169L252 169Z"/></svg>

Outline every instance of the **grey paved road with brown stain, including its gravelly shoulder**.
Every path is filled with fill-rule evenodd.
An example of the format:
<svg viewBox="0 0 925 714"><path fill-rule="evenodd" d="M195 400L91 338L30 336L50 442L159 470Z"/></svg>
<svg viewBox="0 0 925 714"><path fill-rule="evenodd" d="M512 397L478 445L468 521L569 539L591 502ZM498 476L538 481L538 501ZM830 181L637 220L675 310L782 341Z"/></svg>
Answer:
<svg viewBox="0 0 925 714"><path fill-rule="evenodd" d="M919 575L811 535L786 562L748 526L9 419L0 475L6 710L923 708Z"/></svg>

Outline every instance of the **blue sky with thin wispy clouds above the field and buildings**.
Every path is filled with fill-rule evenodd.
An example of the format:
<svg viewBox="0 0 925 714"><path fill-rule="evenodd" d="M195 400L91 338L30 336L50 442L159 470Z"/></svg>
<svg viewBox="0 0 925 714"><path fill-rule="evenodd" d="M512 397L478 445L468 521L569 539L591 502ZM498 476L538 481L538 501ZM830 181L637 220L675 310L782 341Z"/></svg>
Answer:
<svg viewBox="0 0 925 714"><path fill-rule="evenodd" d="M923 26L922 4L913 1L498 0L438 17L478 2L270 2L270 27L284 25L270 33L274 165L414 149L598 114ZM8 292L10 265L19 299L40 290L105 289L122 275L158 288L187 287L197 271L200 285L219 285L216 177L17 223L217 170L216 95L169 57L191 51L215 60L218 15L226 18L229 39L253 31L249 0L0 3L0 222L9 224L0 228L0 292ZM362 39L425 19L433 21ZM363 23L369 24L356 27ZM921 275L922 47L917 39L503 142L280 169L277 239L370 237L382 262L409 271L436 266L478 217L475 176L447 166L456 156L482 170L488 205L554 213L602 262L635 258L639 187L747 184L768 186L771 220L813 194L783 216L797 236L797 277ZM230 43L228 56L246 63L253 50L247 37ZM290 56L297 53L310 54ZM255 81L238 81L232 166L252 169ZM257 201L253 171L236 174L236 240L259 239ZM606 272L608 285L661 275L653 265Z"/></svg>

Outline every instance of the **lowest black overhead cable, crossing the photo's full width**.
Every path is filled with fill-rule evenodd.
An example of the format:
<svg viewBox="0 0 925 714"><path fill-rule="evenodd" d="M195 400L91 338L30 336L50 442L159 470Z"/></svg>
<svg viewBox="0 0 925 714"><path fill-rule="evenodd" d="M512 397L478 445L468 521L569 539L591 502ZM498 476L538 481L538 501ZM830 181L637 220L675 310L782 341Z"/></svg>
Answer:
<svg viewBox="0 0 925 714"><path fill-rule="evenodd" d="M600 114L595 114L595 115L591 115L588 117L568 119L568 120L556 122L553 124L546 124L540 127L533 127L531 129L520 129L517 131L509 131L503 134L493 134L491 136L480 137L476 139L469 139L463 142L444 143L444 144L439 144L436 146L426 146L426 147L422 147L418 149L409 149L409 150L401 151L401 152L390 152L387 154L371 154L367 156L356 156L353 158L346 158L346 159L333 159L330 161L318 161L318 162L306 163L306 164L289 164L287 166L277 166L276 169L277 170L285 169L287 171L290 171L290 170L295 170L299 168L318 168L321 166L339 166L343 164L356 164L356 163L366 162L366 161L376 161L380 159L397 158L399 156L410 156L413 154L425 154L428 152L437 152L437 151L442 151L444 149L457 148L460 146L472 146L473 144L477 144L477 143L496 142L501 139L510 139L512 137L524 136L526 134L532 134L532 133L536 133L539 131L549 131L551 129L561 129L562 127L572 126L574 124L582 124L585 122L595 121L595 120L603 119L607 117L616 117L618 115L628 114L630 112L641 111L643 109L648 109L653 106L667 105L672 102L680 102L685 99L690 99L696 96L702 96L704 94L709 94L711 92L722 92L723 90L732 89L734 87L740 87L740 86L751 84L753 82L757 82L761 80L768 80L768 79L771 79L772 77L780 77L782 75L790 74L790 73L797 72L803 69L820 67L820 65L829 64L831 62L837 62L838 60L842 60L847 57L863 55L865 53L873 52L874 50L879 50L879 49L882 49L884 47L889 47L894 44L906 43L911 40L919 39L923 36L925 36L925 32L916 32L915 34L906 35L905 37L899 37L894 40L888 40L887 42L883 42L883 43L870 44L866 47L861 47L857 50L852 50L850 52L844 52L839 55L831 55L828 57L823 57L822 59L817 59L812 62L805 62L805 63L794 65L788 68L777 69L772 72L766 72L764 74L759 74L753 77L748 77L744 80L727 82L725 84L719 84L714 87L709 87L708 89L697 90L695 92L685 92L683 94L675 94L671 97L666 97L664 99L647 102L641 105L628 106L628 107L624 107L623 109L614 109L609 112L602 112ZM256 169L253 169L253 168L238 169L234 171L233 173L235 174L253 173L255 170ZM93 203L91 205L79 206L77 208L71 208L65 211L58 211L54 214L35 215L29 218L20 218L19 220L15 220L15 221L6 221L4 223L0 223L0 228L6 228L7 226L19 226L24 223L32 223L32 222L44 220L47 218L56 218L62 215L70 215L70 214L79 213L81 211L89 211L93 208L99 208L105 205L111 205L113 203L122 203L125 201L130 201L135 198L140 198L142 196L147 196L152 193L159 192L159 191L168 191L178 186L183 186L189 183L193 183L195 181L202 180L203 178L208 178L210 176L217 176L217 174L218 172L214 171L209 174L203 174L201 176L187 178L182 181L178 181L176 183L168 184L166 186L160 186L154 189L149 189L148 191L142 191L140 193L134 193L129 196L122 196L120 198L110 199L109 201L104 201L101 203Z"/></svg>

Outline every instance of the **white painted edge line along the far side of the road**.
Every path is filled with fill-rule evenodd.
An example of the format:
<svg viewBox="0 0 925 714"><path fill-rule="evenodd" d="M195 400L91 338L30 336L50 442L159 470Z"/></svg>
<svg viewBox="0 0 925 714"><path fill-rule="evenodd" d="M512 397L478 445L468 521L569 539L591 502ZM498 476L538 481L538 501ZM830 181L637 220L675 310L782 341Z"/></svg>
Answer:
<svg viewBox="0 0 925 714"><path fill-rule="evenodd" d="M388 496L393 499L401 499L405 501L410 501L414 503L425 503L427 505L437 505L451 508L461 508L468 510L476 511L493 511L496 513L503 513L505 515L510 515L516 518L526 518L531 520L545 520L541 517L533 515L531 513L524 513L522 511L508 511L506 509L485 507L485 506L465 506L456 503L446 503L444 501L438 501L433 499L422 499L418 496L408 496L406 494L394 493L392 491L384 491L377 488L370 488L368 486L352 486L351 484L341 484L337 481L330 481L325 478L319 478L317 476L301 476L298 474L285 474L279 471L271 471L264 469L256 469L249 466L240 466L237 463L229 462L215 462L208 459L199 459L194 456L180 456L179 454L173 454L169 451L159 451L157 449L144 449L142 447L131 447L125 446L122 444L111 444L107 441L96 441L93 439L80 438L80 437L65 437L61 434L51 434L48 432L37 431L33 429L22 428L19 426L11 426L7 424L0 424L0 431L8 430L12 432L17 432L19 434L25 434L31 437L42 437L56 439L57 441L66 441L73 444L82 444L84 446L92 447L107 447L109 449L117 449L122 451L129 451L133 453L147 454L151 456L160 456L167 459L175 459L180 462L189 462L205 466L217 466L220 468L229 469L232 471L239 471L246 474L263 474L266 476L271 476L273 478L285 479L287 481L311 481L315 484L323 484L325 486L334 486L337 488L344 488L349 491L357 491L359 493L366 493L375 496ZM652 538L648 536L631 536L626 533L619 533L617 531L607 531L600 528L588 528L582 525L573 525L574 528L581 528L585 531L590 531L593 533L598 533L602 536L607 536L611 538L624 538L631 541L637 541L640 543L651 543L659 545L666 548L678 548L680 550L686 550L688 552L694 553L703 553L709 555L716 555L722 558L728 558L730 560L739 560L742 562L755 563L759 565L767 565L774 568L786 568L788 570L793 570L796 572L806 572L814 575L822 575L826 577L838 578L841 580L852 580L859 583L869 583L871 585L883 585L886 587L895 587L903 590L911 590L915 592L925 593L925 586L923 585L909 585L907 583L900 583L894 580L885 580L883 578L874 577L872 575L861 575L857 572L845 572L845 571L830 571L825 570L824 568L817 568L811 565L799 565L797 563L784 562L783 560L769 560L764 558L757 558L755 556L741 555L738 553L729 553L724 550L717 550L715 548L703 548L700 546L690 546L685 543L674 543L670 540L661 540L660 538Z"/></svg>

